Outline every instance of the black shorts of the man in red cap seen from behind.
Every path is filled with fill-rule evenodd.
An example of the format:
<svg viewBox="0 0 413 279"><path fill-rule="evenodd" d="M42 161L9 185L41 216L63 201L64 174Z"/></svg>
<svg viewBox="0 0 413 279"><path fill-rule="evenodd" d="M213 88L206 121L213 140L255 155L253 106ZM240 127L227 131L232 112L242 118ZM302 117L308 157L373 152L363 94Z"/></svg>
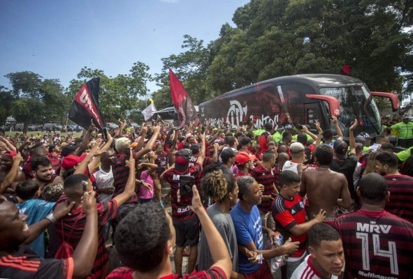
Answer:
<svg viewBox="0 0 413 279"><path fill-rule="evenodd" d="M173 220L176 232L176 245L196 245L199 241L199 219L197 216L185 221Z"/></svg>

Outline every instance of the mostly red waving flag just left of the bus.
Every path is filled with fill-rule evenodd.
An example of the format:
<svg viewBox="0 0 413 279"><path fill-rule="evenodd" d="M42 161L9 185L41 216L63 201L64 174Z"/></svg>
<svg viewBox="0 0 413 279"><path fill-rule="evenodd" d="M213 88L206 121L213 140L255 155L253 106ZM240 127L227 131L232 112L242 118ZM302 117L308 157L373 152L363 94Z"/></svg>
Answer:
<svg viewBox="0 0 413 279"><path fill-rule="evenodd" d="M169 68L169 85L171 86L172 102L177 112L178 126L182 128L185 124L197 119L198 114L191 97L189 97L189 94L171 68Z"/></svg>

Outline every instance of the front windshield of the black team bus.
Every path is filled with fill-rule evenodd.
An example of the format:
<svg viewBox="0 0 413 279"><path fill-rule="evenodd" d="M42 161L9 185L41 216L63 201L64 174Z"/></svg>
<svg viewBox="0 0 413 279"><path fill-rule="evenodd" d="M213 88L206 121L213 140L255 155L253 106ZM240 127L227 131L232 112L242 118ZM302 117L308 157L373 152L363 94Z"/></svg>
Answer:
<svg viewBox="0 0 413 279"><path fill-rule="evenodd" d="M340 103L338 123L346 139L349 137L349 127L354 119L359 122L358 128L354 130L354 136L362 131L370 136L382 132L379 110L364 86L321 88L320 93L337 98Z"/></svg>

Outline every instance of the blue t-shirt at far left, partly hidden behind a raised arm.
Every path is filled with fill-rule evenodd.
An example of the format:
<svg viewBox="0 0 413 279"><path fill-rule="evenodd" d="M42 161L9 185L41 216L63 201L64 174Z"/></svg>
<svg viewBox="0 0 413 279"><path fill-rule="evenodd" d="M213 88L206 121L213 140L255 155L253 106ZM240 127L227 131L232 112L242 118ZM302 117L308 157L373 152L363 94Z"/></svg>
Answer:
<svg viewBox="0 0 413 279"><path fill-rule="evenodd" d="M27 215L27 225L33 225L43 220L53 212L54 202L46 202L43 199L29 199L26 202L17 204L17 207L24 215ZM45 233L39 234L34 241L28 245L39 257L45 257Z"/></svg>

